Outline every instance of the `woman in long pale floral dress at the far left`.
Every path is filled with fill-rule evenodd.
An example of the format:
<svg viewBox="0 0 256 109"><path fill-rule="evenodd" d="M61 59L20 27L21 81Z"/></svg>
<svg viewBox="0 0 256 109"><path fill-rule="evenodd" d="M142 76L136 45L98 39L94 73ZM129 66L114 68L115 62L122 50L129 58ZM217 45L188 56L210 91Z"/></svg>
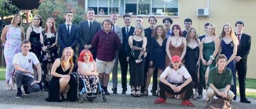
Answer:
<svg viewBox="0 0 256 109"><path fill-rule="evenodd" d="M21 52L21 41L24 40L24 29L22 27L22 17L20 13L15 14L10 25L6 25L2 31L1 41L4 45L4 58L6 60L6 90L16 90L13 81L13 57ZM7 40L6 40L7 39ZM11 88L9 82L12 82Z"/></svg>

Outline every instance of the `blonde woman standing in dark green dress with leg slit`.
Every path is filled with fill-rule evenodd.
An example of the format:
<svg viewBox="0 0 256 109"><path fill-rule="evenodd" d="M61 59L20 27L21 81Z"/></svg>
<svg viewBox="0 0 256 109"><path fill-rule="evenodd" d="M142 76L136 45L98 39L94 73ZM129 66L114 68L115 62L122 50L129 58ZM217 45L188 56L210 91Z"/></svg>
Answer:
<svg viewBox="0 0 256 109"><path fill-rule="evenodd" d="M216 55L219 51L219 38L216 36L216 29L214 24L208 26L208 36L202 39L200 45L200 84L207 89L209 70L216 65ZM209 97L206 96L203 102L209 102Z"/></svg>

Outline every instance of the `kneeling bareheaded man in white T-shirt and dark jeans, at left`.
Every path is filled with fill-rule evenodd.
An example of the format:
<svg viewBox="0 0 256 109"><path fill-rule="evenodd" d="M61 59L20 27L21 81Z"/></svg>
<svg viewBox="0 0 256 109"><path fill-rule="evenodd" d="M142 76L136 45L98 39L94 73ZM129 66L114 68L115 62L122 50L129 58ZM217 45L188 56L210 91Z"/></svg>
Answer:
<svg viewBox="0 0 256 109"><path fill-rule="evenodd" d="M29 52L31 49L31 43L28 40L24 40L21 43L22 52L14 55L13 66L15 68L15 82L17 84L16 98L22 98L21 86L23 85L24 94L30 95L30 92L39 91L40 87L37 83L41 82L41 66L37 59L37 56ZM34 79L34 71L32 65L37 68L38 79Z"/></svg>

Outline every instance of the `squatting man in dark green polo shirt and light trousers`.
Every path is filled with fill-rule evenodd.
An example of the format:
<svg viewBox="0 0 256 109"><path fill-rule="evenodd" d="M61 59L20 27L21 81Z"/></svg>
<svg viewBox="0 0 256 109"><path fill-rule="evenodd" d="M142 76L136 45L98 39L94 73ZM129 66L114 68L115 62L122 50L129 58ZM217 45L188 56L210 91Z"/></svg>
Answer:
<svg viewBox="0 0 256 109"><path fill-rule="evenodd" d="M209 104L214 102L213 96L222 96L228 102L235 96L230 91L230 86L233 85L232 71L226 68L227 58L221 54L217 56L216 63L218 66L213 67L209 71L207 96L210 98Z"/></svg>

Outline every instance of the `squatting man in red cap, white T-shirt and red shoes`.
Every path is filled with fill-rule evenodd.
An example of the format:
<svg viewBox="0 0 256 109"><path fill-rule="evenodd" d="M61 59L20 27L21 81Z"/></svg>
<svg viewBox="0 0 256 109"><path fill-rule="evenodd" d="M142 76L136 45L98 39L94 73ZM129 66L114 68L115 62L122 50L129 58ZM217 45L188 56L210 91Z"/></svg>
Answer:
<svg viewBox="0 0 256 109"><path fill-rule="evenodd" d="M165 80L165 77L167 79ZM183 77L186 81L183 83ZM154 101L157 104L166 104L165 91L171 95L179 95L186 91L186 95L182 100L182 105L195 106L189 100L193 93L195 83L192 81L187 69L180 64L180 57L174 55L170 66L159 77L160 97Z"/></svg>

